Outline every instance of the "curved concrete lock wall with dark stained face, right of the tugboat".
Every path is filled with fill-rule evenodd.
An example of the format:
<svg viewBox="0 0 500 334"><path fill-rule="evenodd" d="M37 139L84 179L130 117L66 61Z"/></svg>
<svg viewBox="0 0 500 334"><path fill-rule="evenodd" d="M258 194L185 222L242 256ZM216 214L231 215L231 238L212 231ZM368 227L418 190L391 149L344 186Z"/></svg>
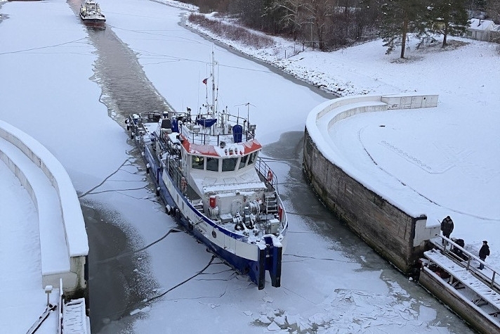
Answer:
<svg viewBox="0 0 500 334"><path fill-rule="evenodd" d="M347 174L335 161L325 158L324 143L318 145L324 141L318 127L325 127L326 123L329 128L338 120L359 113L426 108L437 103L435 95L338 98L315 108L305 125L303 169L317 195L371 248L405 274L412 272L428 248L428 240L440 233L439 226L427 227L427 217L412 217Z"/></svg>

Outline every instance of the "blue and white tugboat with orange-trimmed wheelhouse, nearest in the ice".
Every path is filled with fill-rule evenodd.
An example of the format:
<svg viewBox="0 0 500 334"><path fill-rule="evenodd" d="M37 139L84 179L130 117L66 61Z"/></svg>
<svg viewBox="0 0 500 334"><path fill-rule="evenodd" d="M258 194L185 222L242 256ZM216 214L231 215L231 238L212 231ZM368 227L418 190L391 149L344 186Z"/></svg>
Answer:
<svg viewBox="0 0 500 334"><path fill-rule="evenodd" d="M204 84L211 80L211 101L197 115L189 108L133 114L127 129L166 211L259 290L266 271L279 287L288 221L277 176L258 157L262 146L249 111L240 117L217 110L213 52L210 66Z"/></svg>

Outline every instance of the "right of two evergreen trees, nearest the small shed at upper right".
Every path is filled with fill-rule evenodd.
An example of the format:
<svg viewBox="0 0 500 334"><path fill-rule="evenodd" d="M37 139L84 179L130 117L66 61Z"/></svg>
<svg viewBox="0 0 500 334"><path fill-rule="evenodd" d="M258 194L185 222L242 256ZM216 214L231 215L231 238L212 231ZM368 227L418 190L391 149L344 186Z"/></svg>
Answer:
<svg viewBox="0 0 500 334"><path fill-rule="evenodd" d="M465 0L436 0L430 6L430 22L436 32L442 34L442 46L447 45L447 36L461 36L469 25Z"/></svg>

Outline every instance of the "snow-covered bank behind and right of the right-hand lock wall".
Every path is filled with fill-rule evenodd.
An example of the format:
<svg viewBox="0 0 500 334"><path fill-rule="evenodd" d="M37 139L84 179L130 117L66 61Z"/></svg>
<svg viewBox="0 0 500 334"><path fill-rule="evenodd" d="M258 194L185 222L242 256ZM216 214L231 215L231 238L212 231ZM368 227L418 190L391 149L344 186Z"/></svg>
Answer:
<svg viewBox="0 0 500 334"><path fill-rule="evenodd" d="M283 59L283 50L301 47L275 37L274 47L256 50L194 27L339 96L438 94L438 108L349 117L330 129L327 140L340 148L350 174L360 175L383 197L407 207L417 195L412 211L426 214L428 224L450 215L452 236L466 240L475 253L482 240L489 240L488 261L500 269L500 245L494 239L500 232L500 72L488 70L500 68L500 44L453 37L442 49L436 37L416 49L419 41L412 39L402 60L397 50L386 55L377 40ZM360 154L364 150L369 155ZM402 194L388 179L413 194L398 198Z"/></svg>

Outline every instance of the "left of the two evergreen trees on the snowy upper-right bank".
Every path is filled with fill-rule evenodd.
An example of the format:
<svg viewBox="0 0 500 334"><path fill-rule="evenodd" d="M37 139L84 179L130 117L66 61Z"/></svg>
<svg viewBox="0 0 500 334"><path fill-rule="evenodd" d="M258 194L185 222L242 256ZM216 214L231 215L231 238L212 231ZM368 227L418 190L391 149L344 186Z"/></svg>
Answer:
<svg viewBox="0 0 500 334"><path fill-rule="evenodd" d="M416 27L426 16L426 4L419 0L388 0L382 5L380 36L390 53L396 44L401 44L400 58L404 58L406 39L409 32L414 32Z"/></svg>

